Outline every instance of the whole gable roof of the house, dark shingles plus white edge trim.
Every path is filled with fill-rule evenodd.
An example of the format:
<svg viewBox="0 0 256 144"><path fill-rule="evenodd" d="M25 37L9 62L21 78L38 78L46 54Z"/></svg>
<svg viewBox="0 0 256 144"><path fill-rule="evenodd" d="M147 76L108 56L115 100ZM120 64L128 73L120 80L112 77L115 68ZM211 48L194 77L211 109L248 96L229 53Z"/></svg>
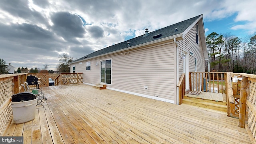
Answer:
<svg viewBox="0 0 256 144"><path fill-rule="evenodd" d="M74 62L80 62L82 60L86 60L86 59L90 59L93 57L98 57L98 56L102 56L105 54L110 54L112 52L118 52L118 51L123 51L126 50L127 48L136 48L136 46L139 46L141 44L145 44L145 43L155 43L158 42L159 40L165 40L166 38L175 36L184 36L193 26L192 24L198 22L198 20L200 20L202 18L202 14L199 16L195 16L194 18L190 18L188 20L184 20L182 22L178 22L176 24L172 24L170 26L167 26L165 28L161 28L159 30L155 30L153 32L149 32L147 36L145 36L145 34L138 36L136 38L132 38L130 40L126 40L124 42L120 42L118 44L114 44L112 46L103 48L101 50L92 52L86 56L83 56L82 58L79 58L77 60L74 60L72 63ZM176 30L177 28L177 30ZM204 28L203 28L204 29ZM204 32L204 30L203 30ZM160 36L161 34L161 36ZM156 38L154 38L154 36ZM159 37L158 37L159 36ZM202 38L202 37L201 37ZM205 40L204 40L205 41ZM204 42L202 41L202 42ZM128 46L127 42L130 42L130 45Z"/></svg>

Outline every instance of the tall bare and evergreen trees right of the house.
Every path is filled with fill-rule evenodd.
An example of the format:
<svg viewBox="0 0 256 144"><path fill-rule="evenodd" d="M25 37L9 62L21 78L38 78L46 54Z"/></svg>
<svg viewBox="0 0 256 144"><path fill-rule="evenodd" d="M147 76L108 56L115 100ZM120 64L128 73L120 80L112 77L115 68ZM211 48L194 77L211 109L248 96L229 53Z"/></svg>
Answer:
<svg viewBox="0 0 256 144"><path fill-rule="evenodd" d="M242 42L236 36L212 32L206 37L206 44L211 72L256 74L256 33Z"/></svg>

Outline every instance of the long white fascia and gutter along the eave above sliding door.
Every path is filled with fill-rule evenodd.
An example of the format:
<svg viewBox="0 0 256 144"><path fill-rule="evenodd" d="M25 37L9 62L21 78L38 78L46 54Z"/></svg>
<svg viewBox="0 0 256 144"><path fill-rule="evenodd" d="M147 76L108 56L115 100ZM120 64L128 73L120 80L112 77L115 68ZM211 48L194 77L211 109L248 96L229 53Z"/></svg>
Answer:
<svg viewBox="0 0 256 144"><path fill-rule="evenodd" d="M178 37L182 37L182 34L176 34L176 35L169 36L169 37L166 37L166 38L161 38L159 40L154 40L154 41L146 42L146 43L139 44L139 45L136 45L136 46L131 46L131 47L128 47L128 48L123 48L121 50L116 50L114 52L108 52L106 54L101 54L101 55L98 55L98 56L93 56L93 57L88 58L88 59L83 59L83 60L79 60L79 61L76 61L76 62L71 62L70 64L77 63L77 62L82 62L84 60L90 60L92 58L97 58L97 57L100 57L100 56L106 56L106 55L109 55L109 54L114 54L114 53L117 53L117 52L122 52L122 51L125 51L125 50L131 50L131 49L134 49L134 48L139 48L141 46L146 46L146 45L150 45L150 44L154 44L154 43L158 43L158 42L163 42L163 41L171 40L171 39L178 38Z"/></svg>

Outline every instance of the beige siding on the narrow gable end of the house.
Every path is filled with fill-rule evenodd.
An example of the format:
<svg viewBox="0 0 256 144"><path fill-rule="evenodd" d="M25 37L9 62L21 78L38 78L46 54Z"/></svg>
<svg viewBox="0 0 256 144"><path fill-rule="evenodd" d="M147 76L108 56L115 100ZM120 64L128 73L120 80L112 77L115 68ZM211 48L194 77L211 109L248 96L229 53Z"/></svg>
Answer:
<svg viewBox="0 0 256 144"><path fill-rule="evenodd" d="M194 56L188 54L189 58L189 72L195 72L195 58L197 59L197 71L196 72L205 72L205 60L204 53L202 48L202 41L200 39L200 32L198 33L198 44L196 43L196 25L193 26L190 31L185 35L183 40L178 41L179 51L187 50L188 52L193 52ZM180 54L180 53L179 53ZM183 73L183 60L179 56L179 77ZM199 86L199 82L198 86ZM194 81L196 84L196 81ZM198 87L197 86L197 87Z"/></svg>

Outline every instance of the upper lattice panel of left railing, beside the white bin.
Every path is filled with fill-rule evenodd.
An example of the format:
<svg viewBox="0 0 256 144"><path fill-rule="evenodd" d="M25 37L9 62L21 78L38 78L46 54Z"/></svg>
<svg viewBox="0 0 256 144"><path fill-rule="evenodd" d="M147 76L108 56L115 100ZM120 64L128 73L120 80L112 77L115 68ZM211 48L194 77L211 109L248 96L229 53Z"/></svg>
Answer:
<svg viewBox="0 0 256 144"><path fill-rule="evenodd" d="M12 79L0 82L0 106L12 96ZM0 107L1 108L1 107Z"/></svg>

